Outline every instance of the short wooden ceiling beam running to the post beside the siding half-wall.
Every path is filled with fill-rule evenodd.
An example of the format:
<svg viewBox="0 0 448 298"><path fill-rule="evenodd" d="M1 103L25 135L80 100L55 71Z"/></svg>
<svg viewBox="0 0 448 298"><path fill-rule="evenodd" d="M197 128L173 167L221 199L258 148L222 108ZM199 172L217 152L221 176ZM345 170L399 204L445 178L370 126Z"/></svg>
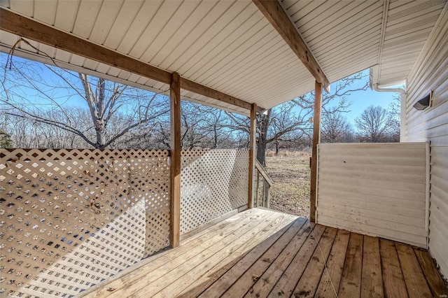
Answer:
<svg viewBox="0 0 448 298"><path fill-rule="evenodd" d="M311 55L311 51L304 43L302 37L295 29L293 23L289 20L288 15L283 11L279 1L272 0L252 0L253 3L260 9L267 20L274 26L280 36L288 43L290 48L299 57L309 72L316 78L316 80L323 85L327 92L330 92L330 80L323 73L321 66Z"/></svg>

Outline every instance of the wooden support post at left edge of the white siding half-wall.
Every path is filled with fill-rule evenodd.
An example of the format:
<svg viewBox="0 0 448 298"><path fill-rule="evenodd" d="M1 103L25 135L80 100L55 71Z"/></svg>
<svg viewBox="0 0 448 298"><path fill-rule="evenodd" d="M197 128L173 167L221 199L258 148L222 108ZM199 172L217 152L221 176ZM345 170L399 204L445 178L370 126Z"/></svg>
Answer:
<svg viewBox="0 0 448 298"><path fill-rule="evenodd" d="M309 191L309 220L316 221L316 183L317 183L317 144L321 141L321 106L322 84L316 80L314 93L314 118L313 118L313 152L311 156L311 190Z"/></svg>

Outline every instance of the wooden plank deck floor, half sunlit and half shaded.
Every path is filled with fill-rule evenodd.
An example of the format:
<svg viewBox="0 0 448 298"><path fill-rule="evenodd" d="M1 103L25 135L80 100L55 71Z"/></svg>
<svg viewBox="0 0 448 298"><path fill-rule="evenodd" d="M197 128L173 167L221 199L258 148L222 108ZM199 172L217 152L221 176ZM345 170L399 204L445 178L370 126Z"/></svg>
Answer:
<svg viewBox="0 0 448 298"><path fill-rule="evenodd" d="M128 270L130 271L130 270ZM447 297L426 250L251 209L86 297Z"/></svg>

